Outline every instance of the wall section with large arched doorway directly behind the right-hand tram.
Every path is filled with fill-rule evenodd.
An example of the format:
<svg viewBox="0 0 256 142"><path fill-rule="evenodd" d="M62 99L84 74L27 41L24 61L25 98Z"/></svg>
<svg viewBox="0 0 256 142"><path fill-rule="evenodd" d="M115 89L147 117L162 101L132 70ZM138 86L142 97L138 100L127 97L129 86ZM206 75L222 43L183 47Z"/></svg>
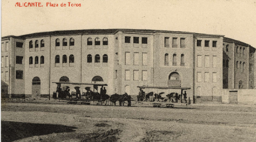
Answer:
<svg viewBox="0 0 256 142"><path fill-rule="evenodd" d="M169 38L169 46L165 45L165 38ZM173 38L177 40L176 44L172 43ZM176 39L177 38L177 39ZM185 47L181 48L181 39L185 39ZM187 97L193 97L193 35L192 34L176 34L176 33L159 33L156 40L156 53L154 59L158 62L154 68L154 86L175 86L172 82L168 84L169 75L177 72L181 80L181 87L190 87L186 90ZM167 42L168 42L167 41ZM166 57L166 55L168 56ZM174 55L176 55L176 64L174 62ZM184 64L181 64L181 55L184 55ZM167 64L168 62L168 64ZM184 66L182 66L184 65ZM166 90L163 90L166 92ZM171 92L170 92L171 91ZM166 94L177 92L177 90L170 90ZM178 90L181 94L180 90ZM184 92L183 92L184 93Z"/></svg>

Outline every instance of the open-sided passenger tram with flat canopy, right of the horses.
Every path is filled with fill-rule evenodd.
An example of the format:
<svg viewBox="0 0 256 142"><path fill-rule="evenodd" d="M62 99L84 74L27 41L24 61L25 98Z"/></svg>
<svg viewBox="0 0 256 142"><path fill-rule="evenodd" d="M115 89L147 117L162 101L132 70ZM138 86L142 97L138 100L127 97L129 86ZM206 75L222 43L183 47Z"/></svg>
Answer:
<svg viewBox="0 0 256 142"><path fill-rule="evenodd" d="M160 87L160 86L137 86L139 95L137 101L140 104L151 105L153 107L187 106L190 104L190 97L187 100L187 93L184 90L190 87ZM146 91L146 93L144 92ZM184 92L183 92L184 91ZM182 97L183 96L183 97Z"/></svg>

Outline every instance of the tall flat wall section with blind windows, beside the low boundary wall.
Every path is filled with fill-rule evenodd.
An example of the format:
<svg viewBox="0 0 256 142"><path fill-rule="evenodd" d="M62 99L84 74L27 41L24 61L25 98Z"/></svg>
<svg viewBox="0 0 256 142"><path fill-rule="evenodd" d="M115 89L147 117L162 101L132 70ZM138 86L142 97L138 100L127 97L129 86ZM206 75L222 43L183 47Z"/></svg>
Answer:
<svg viewBox="0 0 256 142"><path fill-rule="evenodd" d="M197 41L201 40L201 46ZM205 41L209 40L209 47L205 47ZM213 47L213 41L217 41L217 47ZM195 102L220 100L222 90L222 37L194 36L195 45ZM201 57L201 60L200 60ZM201 64L201 65L200 65Z"/></svg>

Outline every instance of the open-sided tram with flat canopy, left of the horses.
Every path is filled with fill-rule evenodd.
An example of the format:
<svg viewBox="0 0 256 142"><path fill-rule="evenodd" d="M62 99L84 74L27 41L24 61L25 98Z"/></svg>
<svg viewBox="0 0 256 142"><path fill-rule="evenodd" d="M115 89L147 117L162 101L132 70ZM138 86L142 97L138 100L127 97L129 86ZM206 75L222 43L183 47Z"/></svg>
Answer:
<svg viewBox="0 0 256 142"><path fill-rule="evenodd" d="M103 102L109 99L106 94L105 87L107 84L92 84L92 83L78 83L78 82L53 82L57 84L56 92L53 92L53 98L59 101L65 101L69 104L82 105L102 105ZM85 87L84 89L82 87ZM90 87L89 87L90 86ZM98 87L100 93L98 93ZM73 89L74 88L74 89ZM91 90L93 89L93 90Z"/></svg>

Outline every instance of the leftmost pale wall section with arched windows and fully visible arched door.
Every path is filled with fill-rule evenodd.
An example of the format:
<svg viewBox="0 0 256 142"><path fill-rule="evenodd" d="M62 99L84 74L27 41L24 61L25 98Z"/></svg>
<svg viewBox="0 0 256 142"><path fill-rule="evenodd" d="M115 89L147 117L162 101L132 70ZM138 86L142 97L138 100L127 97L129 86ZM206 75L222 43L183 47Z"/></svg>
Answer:
<svg viewBox="0 0 256 142"><path fill-rule="evenodd" d="M35 41L39 41L39 47L35 48ZM40 46L44 40L44 47ZM29 42L33 42L33 48L29 48ZM40 94L49 94L49 68L50 68L50 37L36 37L26 39L25 42L25 94L30 97L32 94L32 80L39 77L41 82ZM38 64L35 64L35 57L38 56ZM41 64L41 56L44 56L44 64ZM33 58L33 64L29 64L29 58Z"/></svg>

